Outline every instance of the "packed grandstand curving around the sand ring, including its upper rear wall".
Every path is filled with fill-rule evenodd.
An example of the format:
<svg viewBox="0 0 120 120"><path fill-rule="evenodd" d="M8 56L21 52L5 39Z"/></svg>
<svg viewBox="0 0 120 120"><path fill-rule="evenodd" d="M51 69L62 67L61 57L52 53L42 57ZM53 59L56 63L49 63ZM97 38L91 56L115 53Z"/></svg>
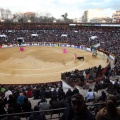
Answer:
<svg viewBox="0 0 120 120"><path fill-rule="evenodd" d="M90 90L92 84L94 91L90 90L89 92L94 92L96 95L94 100L89 101L87 94L84 95L84 98L88 109L94 115L104 105L100 104L97 107L91 107L88 102L92 102L91 105L103 103L106 101L108 94L114 94L117 100L120 100L120 27L117 25L111 27L105 25L94 26L94 24L91 26L85 24L69 25L57 23L1 24L0 48L20 45L65 45L65 47L75 48L81 46L81 49L89 48L90 51L95 49L98 52L103 52L109 60L112 59L113 66L108 61L108 66L105 68L99 65L85 70L75 69L61 73L61 80L69 85L67 91L64 90L62 81L33 85L1 84L0 106L2 107L0 108L0 115L9 114L8 108L11 107L14 109L14 113L34 111L33 108L35 105L32 105L31 99L37 100L36 105L40 107L40 110L65 108L70 104L71 96L80 92L75 86ZM87 83L90 83L90 86ZM97 94L98 92L100 93ZM42 106L44 102L47 103L46 108ZM61 113L61 111L59 112ZM18 116L27 119L30 114L19 114ZM50 118L47 116L48 114L45 115L49 119L52 119L51 114L54 114L54 112L50 113ZM1 116L1 118L3 117Z"/></svg>

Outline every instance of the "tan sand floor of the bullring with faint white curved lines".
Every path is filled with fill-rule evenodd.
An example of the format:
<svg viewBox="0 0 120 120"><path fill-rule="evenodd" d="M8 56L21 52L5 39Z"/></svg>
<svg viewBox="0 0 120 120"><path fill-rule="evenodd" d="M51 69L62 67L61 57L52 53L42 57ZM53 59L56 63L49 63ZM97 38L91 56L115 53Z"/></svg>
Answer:
<svg viewBox="0 0 120 120"><path fill-rule="evenodd" d="M107 66L106 58L92 57L91 52L63 47L27 46L24 52L19 47L0 49L0 84L34 84L61 80L61 73L74 69ZM85 60L77 60L84 56Z"/></svg>

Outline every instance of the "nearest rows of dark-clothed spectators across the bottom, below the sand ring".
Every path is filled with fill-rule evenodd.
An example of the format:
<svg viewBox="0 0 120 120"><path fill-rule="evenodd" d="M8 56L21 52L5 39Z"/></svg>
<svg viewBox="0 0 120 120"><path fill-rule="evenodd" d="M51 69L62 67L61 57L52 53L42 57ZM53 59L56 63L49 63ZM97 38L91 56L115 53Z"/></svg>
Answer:
<svg viewBox="0 0 120 120"><path fill-rule="evenodd" d="M107 90L104 92L104 85L107 85ZM110 86L110 87L109 87ZM101 90L101 95L97 95L98 91ZM48 95L49 94L49 95ZM11 114L11 113L21 113L21 112L32 112L39 110L50 110L50 109L59 109L59 108L69 108L71 107L71 100L73 97L78 95L79 98L80 91L74 87L74 89L68 89L66 92L63 90L61 83L48 83L47 85L1 85L0 86L0 115L2 114ZM103 83L96 82L94 86L94 91L89 88L85 96L82 96L84 103L87 105L85 108L89 108L89 102L92 104L106 102L106 99L109 95L114 95L116 101L120 101L120 82L116 79L113 84L108 78L106 78ZM32 108L29 98L34 100L39 100L38 103ZM49 99L48 99L49 98ZM79 100L78 100L79 101ZM76 102L74 104L77 104ZM112 103L111 103L112 104ZM77 104L78 105L78 104ZM119 106L120 103L117 104ZM69 106L69 107L68 107ZM98 111L105 107L105 104L100 104L92 108L94 116L97 115ZM71 108L70 108L71 109ZM59 111L60 112L60 111ZM63 111L61 111L63 112ZM69 111L70 112L70 111ZM58 113L57 111L52 111L52 114ZM66 114L66 113L64 113ZM68 113L67 113L68 114ZM85 113L87 114L87 113ZM89 113L88 116L92 114ZM34 120L35 116L41 120L45 120L45 114L42 113L32 113L32 114L23 114L22 117L29 118L29 120ZM19 115L18 117L21 118ZM88 117L87 116L87 117ZM17 116L14 116L17 117ZM66 120L66 115L61 118L61 120ZM73 117L73 116L72 116ZM85 117L85 116L81 116ZM69 116L68 116L69 118ZM7 117L1 119L6 120ZM87 118L88 119L88 118ZM86 120L87 120L86 119ZM15 119L16 120L16 119ZM79 120L79 119L75 119ZM89 120L89 119L88 119ZM90 120L94 120L93 117ZM99 120L99 119L97 119Z"/></svg>

